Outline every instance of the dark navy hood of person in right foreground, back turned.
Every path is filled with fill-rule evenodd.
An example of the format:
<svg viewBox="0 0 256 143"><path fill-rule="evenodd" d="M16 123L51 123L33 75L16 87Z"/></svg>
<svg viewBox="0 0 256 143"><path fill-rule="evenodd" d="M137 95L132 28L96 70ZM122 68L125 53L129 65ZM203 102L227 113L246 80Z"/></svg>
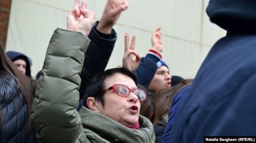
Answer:
<svg viewBox="0 0 256 143"><path fill-rule="evenodd" d="M256 0L210 0L206 13L225 30L256 31Z"/></svg>

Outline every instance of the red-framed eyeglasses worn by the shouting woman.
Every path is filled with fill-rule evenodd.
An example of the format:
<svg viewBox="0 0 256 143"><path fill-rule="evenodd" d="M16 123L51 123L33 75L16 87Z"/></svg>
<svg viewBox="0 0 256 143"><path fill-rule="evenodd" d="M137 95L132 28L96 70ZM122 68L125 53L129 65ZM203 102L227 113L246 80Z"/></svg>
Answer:
<svg viewBox="0 0 256 143"><path fill-rule="evenodd" d="M117 95L122 96L122 97L127 97L132 92L134 95L138 96L138 100L142 101L142 100L146 99L146 93L144 90L139 89L139 88L132 90L132 89L126 87L125 85L121 85L121 84L114 84L110 88L103 90L98 95L102 95L109 90L114 90Z"/></svg>

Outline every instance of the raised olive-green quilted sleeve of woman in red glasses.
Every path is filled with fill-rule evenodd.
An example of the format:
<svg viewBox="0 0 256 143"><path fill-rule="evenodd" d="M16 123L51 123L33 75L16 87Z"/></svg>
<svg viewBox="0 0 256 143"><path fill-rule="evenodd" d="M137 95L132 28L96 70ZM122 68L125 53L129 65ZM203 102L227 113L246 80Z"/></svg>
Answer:
<svg viewBox="0 0 256 143"><path fill-rule="evenodd" d="M52 35L32 105L31 120L40 143L84 143L76 108L89 43L78 32L57 28Z"/></svg>

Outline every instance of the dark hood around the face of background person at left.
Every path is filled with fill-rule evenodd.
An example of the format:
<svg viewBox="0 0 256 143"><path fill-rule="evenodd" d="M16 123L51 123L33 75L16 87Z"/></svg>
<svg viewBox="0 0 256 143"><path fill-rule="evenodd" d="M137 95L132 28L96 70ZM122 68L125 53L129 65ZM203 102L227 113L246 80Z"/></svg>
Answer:
<svg viewBox="0 0 256 143"><path fill-rule="evenodd" d="M15 61L15 60L18 60L18 59L22 59L22 60L25 59L25 62L26 62L26 75L31 77L30 65L32 65L32 63L29 62L31 59L29 60L29 58L26 55L24 55L22 53L19 53L19 52L8 51L6 54L8 55L10 60L12 60L12 61Z"/></svg>

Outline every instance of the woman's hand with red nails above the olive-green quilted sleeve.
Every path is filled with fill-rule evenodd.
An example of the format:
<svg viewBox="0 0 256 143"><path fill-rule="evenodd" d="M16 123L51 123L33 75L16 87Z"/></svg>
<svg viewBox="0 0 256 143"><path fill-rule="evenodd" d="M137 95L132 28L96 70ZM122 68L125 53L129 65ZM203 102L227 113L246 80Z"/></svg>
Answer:
<svg viewBox="0 0 256 143"><path fill-rule="evenodd" d="M75 0L73 10L67 17L67 30L81 32L88 36L94 19L94 12L87 10L87 3L83 0L81 7L80 0Z"/></svg>

